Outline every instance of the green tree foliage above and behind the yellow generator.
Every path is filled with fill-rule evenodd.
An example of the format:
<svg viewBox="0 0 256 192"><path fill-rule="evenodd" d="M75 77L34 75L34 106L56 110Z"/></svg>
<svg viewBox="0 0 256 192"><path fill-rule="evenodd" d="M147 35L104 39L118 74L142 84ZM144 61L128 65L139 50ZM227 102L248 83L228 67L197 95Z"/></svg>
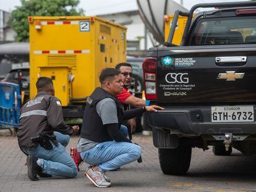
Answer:
<svg viewBox="0 0 256 192"><path fill-rule="evenodd" d="M20 0L21 6L12 11L9 25L16 31L15 41L29 41L28 16L83 15L77 9L79 0Z"/></svg>

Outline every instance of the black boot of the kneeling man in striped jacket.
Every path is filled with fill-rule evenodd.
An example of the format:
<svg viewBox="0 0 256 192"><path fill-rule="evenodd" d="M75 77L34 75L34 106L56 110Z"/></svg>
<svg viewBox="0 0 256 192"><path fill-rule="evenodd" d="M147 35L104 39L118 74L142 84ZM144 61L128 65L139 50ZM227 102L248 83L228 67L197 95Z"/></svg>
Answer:
<svg viewBox="0 0 256 192"><path fill-rule="evenodd" d="M36 175L42 171L41 167L36 163L37 159L38 157L35 156L27 157L28 178L32 181L38 181L39 178Z"/></svg>

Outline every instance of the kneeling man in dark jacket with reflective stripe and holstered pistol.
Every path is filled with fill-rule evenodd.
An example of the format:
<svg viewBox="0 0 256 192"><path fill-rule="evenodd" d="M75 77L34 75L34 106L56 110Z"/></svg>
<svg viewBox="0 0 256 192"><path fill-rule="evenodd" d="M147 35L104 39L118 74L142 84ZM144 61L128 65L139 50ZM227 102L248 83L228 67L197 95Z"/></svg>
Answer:
<svg viewBox="0 0 256 192"><path fill-rule="evenodd" d="M54 97L51 78L40 77L36 82L37 94L20 109L17 131L19 146L28 154L28 178L37 175L56 175L73 178L77 167L66 151L69 135L77 133L77 125L64 123L61 101Z"/></svg>

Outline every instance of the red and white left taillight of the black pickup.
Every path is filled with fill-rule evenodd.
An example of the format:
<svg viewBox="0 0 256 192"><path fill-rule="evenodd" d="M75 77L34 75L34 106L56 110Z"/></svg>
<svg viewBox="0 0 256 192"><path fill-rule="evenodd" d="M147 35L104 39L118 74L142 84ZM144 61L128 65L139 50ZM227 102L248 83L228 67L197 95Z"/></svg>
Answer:
<svg viewBox="0 0 256 192"><path fill-rule="evenodd" d="M145 97L147 100L156 99L156 58L147 57L143 64L143 77L145 86Z"/></svg>

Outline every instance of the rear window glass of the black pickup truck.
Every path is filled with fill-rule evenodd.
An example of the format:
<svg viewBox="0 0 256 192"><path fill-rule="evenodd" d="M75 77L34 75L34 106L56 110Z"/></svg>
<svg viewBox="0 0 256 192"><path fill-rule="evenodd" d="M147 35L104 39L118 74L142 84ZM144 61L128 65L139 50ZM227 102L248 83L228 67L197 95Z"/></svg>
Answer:
<svg viewBox="0 0 256 192"><path fill-rule="evenodd" d="M256 17L202 19L190 45L256 43Z"/></svg>

